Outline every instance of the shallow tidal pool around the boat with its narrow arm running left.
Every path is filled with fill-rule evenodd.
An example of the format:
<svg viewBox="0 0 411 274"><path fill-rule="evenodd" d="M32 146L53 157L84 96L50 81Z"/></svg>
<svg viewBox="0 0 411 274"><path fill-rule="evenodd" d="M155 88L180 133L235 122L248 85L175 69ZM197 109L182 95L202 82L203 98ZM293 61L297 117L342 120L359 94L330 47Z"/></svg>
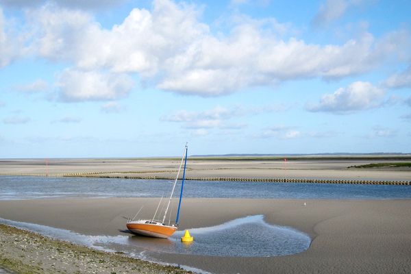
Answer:
<svg viewBox="0 0 411 274"><path fill-rule="evenodd" d="M0 219L0 223L13 225L45 236L75 242L79 245L105 251L122 251L129 256L144 258L145 252L178 253L205 256L271 257L306 251L311 239L303 232L290 227L269 225L262 215L247 216L214 227L190 229L194 242L184 244L176 232L169 239L144 236L87 236L66 229L45 225Z"/></svg>

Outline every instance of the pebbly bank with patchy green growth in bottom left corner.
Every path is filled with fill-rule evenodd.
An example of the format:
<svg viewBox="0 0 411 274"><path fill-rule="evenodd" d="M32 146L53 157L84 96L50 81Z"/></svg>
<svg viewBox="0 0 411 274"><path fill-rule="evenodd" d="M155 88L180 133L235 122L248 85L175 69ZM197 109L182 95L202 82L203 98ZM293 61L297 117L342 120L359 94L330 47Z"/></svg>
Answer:
<svg viewBox="0 0 411 274"><path fill-rule="evenodd" d="M14 273L191 273L0 224L0 265Z"/></svg>

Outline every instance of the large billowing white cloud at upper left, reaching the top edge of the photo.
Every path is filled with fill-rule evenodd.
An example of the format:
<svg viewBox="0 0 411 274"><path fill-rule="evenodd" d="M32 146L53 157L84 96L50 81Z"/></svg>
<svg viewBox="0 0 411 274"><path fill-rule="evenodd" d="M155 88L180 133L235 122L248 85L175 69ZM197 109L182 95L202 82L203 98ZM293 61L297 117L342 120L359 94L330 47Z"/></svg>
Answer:
<svg viewBox="0 0 411 274"><path fill-rule="evenodd" d="M167 0L154 1L152 12L133 9L112 29L103 29L86 12L55 5L29 13L42 56L69 60L82 69L106 67L142 75L158 73L167 58L184 53L196 36L207 31L196 16L190 6Z"/></svg>

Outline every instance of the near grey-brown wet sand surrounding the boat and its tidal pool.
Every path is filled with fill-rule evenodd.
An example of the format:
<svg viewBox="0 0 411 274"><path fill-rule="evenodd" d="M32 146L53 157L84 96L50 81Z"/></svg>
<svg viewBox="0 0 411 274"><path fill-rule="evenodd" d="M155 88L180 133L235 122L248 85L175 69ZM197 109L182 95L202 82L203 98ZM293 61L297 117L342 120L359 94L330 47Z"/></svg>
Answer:
<svg viewBox="0 0 411 274"><path fill-rule="evenodd" d="M127 235L125 219L158 199L47 199L0 201L0 217L88 235ZM306 202L306 206L303 203ZM308 251L271 258L151 253L212 273L410 273L411 200L184 199L181 229L264 214L312 238ZM194 235L195 236L195 235Z"/></svg>

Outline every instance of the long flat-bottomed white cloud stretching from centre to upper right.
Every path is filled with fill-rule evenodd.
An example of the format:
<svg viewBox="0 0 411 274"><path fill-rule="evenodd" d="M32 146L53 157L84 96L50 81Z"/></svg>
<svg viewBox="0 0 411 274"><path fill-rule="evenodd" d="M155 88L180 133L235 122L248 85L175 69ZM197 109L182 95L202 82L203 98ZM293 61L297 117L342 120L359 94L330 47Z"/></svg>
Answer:
<svg viewBox="0 0 411 274"><path fill-rule="evenodd" d="M290 79L356 75L393 52L394 36L376 42L365 33L344 45L321 46L297 38L278 40L256 25L240 25L226 38L205 36L184 55L167 60L158 88L206 97Z"/></svg>

